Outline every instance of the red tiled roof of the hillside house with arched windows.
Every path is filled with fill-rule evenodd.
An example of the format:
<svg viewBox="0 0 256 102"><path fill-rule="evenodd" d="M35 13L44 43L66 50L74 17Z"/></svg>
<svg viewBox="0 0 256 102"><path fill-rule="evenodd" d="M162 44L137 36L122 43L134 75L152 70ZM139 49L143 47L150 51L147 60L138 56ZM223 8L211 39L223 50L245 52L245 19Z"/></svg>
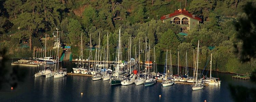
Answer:
<svg viewBox="0 0 256 102"><path fill-rule="evenodd" d="M180 9L180 10L176 10L174 13L171 13L169 14L169 17L164 15L160 18L160 20L165 20L165 19L168 19L168 18L171 18L171 17L174 17L174 16L177 16L177 15L185 15L185 16L188 16L192 19L195 19L195 20L198 20L198 21L202 21L202 18L198 17L198 16L193 16L193 14L190 14L188 13L188 11L186 10L183 10L183 9Z"/></svg>

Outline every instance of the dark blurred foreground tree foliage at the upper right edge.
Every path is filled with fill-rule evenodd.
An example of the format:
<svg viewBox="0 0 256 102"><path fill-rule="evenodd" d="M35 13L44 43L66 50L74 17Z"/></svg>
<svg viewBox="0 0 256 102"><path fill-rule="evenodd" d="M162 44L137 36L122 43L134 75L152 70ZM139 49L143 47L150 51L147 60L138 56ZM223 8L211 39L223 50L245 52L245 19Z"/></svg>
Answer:
<svg viewBox="0 0 256 102"><path fill-rule="evenodd" d="M235 23L237 39L241 40L243 45L241 49L235 46L236 52L241 53L241 60L250 61L251 58L256 58L256 7L252 3L247 3L243 10L246 15Z"/></svg>

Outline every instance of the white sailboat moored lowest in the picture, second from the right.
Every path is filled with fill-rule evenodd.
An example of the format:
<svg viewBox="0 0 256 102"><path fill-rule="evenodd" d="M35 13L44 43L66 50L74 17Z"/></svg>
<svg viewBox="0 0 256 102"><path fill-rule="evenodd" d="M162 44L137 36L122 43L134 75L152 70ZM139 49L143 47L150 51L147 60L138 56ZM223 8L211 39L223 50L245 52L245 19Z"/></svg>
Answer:
<svg viewBox="0 0 256 102"><path fill-rule="evenodd" d="M198 40L198 46L197 46L197 58L196 58L196 72L194 73L194 78L196 79L196 82L193 82L192 90L200 90L203 89L204 84L201 80L198 80L198 55L199 55L199 40Z"/></svg>

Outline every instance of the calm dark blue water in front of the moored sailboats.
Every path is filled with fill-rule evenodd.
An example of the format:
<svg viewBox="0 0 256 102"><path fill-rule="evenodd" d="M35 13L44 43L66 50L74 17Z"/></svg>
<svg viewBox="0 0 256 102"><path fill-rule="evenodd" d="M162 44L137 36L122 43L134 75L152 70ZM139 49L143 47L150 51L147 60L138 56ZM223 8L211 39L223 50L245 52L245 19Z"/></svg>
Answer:
<svg viewBox="0 0 256 102"><path fill-rule="evenodd" d="M11 60L6 63L9 73L17 69L18 73L25 72L24 75L18 75L16 79L18 85L11 90L10 84L3 84L0 90L0 102L72 102L72 101L174 101L174 102L232 102L228 84L243 85L255 87L250 81L232 79L232 74L218 73L222 80L220 86L206 86L202 90L192 91L190 85L175 84L169 87L162 87L160 82L153 86L144 87L135 84L128 86L111 86L109 81L92 81L91 77L71 76L54 79L45 77L34 78L35 72L42 67L15 67L11 66ZM75 63L64 62L63 68L68 68L70 72ZM53 67L53 66L49 66ZM163 66L158 66L159 70ZM83 92L83 95L81 95ZM159 98L159 95L162 97Z"/></svg>

